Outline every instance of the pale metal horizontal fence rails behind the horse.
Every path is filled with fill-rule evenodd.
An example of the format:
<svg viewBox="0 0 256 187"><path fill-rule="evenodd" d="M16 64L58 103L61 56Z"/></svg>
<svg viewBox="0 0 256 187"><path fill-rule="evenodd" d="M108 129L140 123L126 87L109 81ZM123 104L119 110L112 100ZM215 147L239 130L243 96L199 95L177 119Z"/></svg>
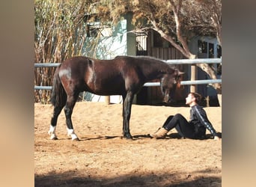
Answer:
<svg viewBox="0 0 256 187"><path fill-rule="evenodd" d="M222 58L177 59L166 60L164 62L168 64L221 64ZM59 64L61 63L35 63L34 67L58 67ZM213 83L222 83L222 79L182 81L180 82L180 85L207 85ZM144 84L144 86L160 86L160 82L147 82ZM52 86L34 86L34 90L52 90Z"/></svg>

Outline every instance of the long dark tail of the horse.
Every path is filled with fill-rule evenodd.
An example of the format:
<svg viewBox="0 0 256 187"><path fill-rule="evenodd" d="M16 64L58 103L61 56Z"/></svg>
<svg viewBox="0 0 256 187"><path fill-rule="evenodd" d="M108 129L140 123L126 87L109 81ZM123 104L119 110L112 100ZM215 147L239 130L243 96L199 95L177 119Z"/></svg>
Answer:
<svg viewBox="0 0 256 187"><path fill-rule="evenodd" d="M61 79L59 76L59 67L56 68L53 80L52 80L52 94L51 94L51 102L52 105L64 105L67 101L67 93L64 90L63 85L61 84Z"/></svg>

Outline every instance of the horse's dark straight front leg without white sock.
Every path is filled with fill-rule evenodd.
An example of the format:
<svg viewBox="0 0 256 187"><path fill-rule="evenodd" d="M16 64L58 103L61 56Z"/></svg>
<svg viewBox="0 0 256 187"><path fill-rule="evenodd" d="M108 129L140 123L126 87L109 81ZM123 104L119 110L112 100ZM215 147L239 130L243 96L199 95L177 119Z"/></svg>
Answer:
<svg viewBox="0 0 256 187"><path fill-rule="evenodd" d="M131 117L132 110L132 99L134 93L131 91L127 92L127 96L123 99L123 135L124 138L132 138L132 135L129 132L129 118ZM124 98L124 96L123 96Z"/></svg>

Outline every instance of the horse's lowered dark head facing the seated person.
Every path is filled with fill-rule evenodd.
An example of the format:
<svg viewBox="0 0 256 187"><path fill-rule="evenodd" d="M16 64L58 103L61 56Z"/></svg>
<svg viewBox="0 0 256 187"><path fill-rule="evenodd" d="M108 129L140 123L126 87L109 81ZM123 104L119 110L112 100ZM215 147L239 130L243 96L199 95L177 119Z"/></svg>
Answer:
<svg viewBox="0 0 256 187"><path fill-rule="evenodd" d="M183 72L175 69L173 73L166 73L161 79L161 90L164 96L163 102L171 102L174 97L174 92L179 82L180 75Z"/></svg>

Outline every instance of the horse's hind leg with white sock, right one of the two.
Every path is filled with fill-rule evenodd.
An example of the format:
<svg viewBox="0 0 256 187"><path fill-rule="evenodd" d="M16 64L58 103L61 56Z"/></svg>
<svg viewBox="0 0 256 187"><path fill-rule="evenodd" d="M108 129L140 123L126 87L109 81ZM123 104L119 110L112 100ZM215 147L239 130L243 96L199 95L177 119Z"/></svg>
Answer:
<svg viewBox="0 0 256 187"><path fill-rule="evenodd" d="M68 95L67 103L64 107L64 112L66 115L66 123L67 123L67 135L70 135L72 140L76 140L76 141L79 141L79 138L77 137L77 135L74 132L71 115L73 113L73 108L75 106L76 99L78 98L78 96L79 96L79 93L76 93L75 95L71 95L71 96Z"/></svg>

